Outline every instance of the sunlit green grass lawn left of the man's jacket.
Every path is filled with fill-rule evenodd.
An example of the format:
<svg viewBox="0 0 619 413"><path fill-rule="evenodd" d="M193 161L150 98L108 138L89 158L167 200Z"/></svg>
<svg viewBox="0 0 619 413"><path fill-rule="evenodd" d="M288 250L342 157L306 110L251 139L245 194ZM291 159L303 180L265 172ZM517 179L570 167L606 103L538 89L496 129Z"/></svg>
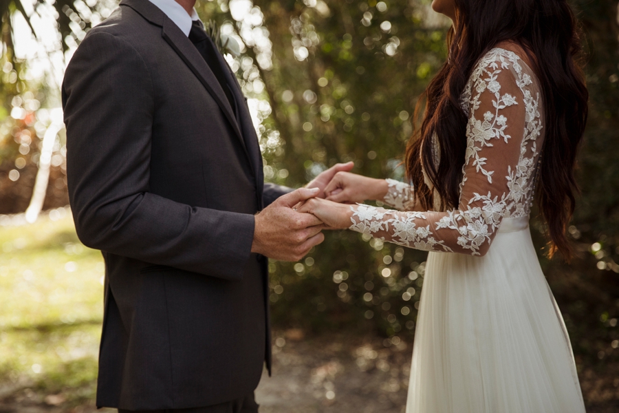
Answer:
<svg viewBox="0 0 619 413"><path fill-rule="evenodd" d="M49 405L91 402L103 274L100 252L79 242L68 210L0 226L0 394L25 389Z"/></svg>

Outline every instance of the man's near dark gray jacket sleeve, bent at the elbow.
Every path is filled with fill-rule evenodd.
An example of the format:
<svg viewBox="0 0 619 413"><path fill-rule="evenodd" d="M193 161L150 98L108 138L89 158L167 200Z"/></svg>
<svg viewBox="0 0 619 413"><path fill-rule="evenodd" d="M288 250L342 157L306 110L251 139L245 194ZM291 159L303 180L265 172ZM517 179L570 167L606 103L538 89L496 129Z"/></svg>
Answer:
<svg viewBox="0 0 619 413"><path fill-rule="evenodd" d="M155 104L140 54L124 39L92 30L63 83L69 200L78 236L107 253L239 280L250 259L253 215L149 192Z"/></svg>

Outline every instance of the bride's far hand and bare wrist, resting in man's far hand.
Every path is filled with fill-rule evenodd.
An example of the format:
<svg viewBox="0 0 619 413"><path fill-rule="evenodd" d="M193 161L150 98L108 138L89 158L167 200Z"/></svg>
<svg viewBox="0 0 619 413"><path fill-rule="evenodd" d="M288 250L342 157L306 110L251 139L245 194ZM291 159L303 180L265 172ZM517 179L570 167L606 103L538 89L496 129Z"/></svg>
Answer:
<svg viewBox="0 0 619 413"><path fill-rule="evenodd" d="M389 185L385 180L340 171L325 188L325 194L329 201L355 204L365 200L383 200L387 189Z"/></svg>

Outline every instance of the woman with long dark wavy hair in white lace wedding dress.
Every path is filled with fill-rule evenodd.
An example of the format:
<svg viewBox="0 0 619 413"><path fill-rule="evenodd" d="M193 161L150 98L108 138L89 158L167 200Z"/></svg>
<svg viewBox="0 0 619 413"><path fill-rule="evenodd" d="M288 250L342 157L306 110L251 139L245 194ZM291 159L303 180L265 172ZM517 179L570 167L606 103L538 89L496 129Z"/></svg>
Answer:
<svg viewBox="0 0 619 413"><path fill-rule="evenodd" d="M563 0L550 1L567 8ZM531 5L546 7L550 1L485 3L508 11L508 3L525 4L532 11L520 9L514 14L533 14L539 10ZM467 23L463 13L483 17L484 10L472 10L470 3L474 2L435 0L433 8L462 27ZM569 8L565 10L572 18ZM550 16L561 18L561 14ZM570 28L567 33L573 34ZM565 36L557 34L561 35ZM453 39L458 44L452 43L450 59L455 59L454 47L470 46L465 43L471 36L455 30ZM453 144L444 138L449 132L436 126L445 122L445 116L431 118L432 111L426 109L420 138L413 140L406 159L409 178L417 181L415 187L426 185L425 192L416 193L409 184L394 180L338 173L325 189L330 194L327 200L314 198L300 207L332 228L431 251L417 315L407 413L585 412L572 347L539 266L528 222L537 190L551 241L559 250L567 249L565 226L574 188L560 184L565 174L572 177L586 119L586 89L578 76L572 84L576 92L569 90L569 83L563 91L552 89L556 83L544 85L538 74L548 73L544 59L552 56L541 55L526 39L523 35L490 44L468 70L457 108L464 119L461 140L466 140L466 147L457 165L461 171L454 189L459 197L456 205L450 206L449 188L442 184L449 181L449 173L437 173L442 159L453 161L448 152ZM567 45L563 49L569 50L573 40L563 39ZM562 50L556 43L552 47L556 53ZM572 63L571 55L563 58ZM450 64L455 63L446 67ZM569 68L566 72L571 73ZM445 89L439 85L434 92L446 93ZM431 84L428 94L432 90ZM437 100L429 96L428 106ZM583 113L569 118L569 110ZM429 160L423 149L428 142ZM415 178L415 165L421 165L421 178ZM395 209L343 204L363 200L380 200ZM557 225L563 232L556 231Z"/></svg>

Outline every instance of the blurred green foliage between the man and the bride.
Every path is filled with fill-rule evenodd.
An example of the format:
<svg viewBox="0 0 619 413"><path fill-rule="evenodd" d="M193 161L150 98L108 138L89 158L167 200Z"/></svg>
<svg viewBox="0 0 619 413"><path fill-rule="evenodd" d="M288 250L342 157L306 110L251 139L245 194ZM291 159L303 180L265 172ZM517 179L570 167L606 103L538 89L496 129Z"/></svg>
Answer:
<svg viewBox="0 0 619 413"><path fill-rule="evenodd" d="M271 127L285 140L283 153L265 153L265 174L296 187L354 160L357 173L402 179L415 103L446 54L445 22L429 25L428 5L409 1L306 4L257 2L275 51L263 71ZM332 233L304 262L270 264L275 322L412 332L425 255Z"/></svg>

